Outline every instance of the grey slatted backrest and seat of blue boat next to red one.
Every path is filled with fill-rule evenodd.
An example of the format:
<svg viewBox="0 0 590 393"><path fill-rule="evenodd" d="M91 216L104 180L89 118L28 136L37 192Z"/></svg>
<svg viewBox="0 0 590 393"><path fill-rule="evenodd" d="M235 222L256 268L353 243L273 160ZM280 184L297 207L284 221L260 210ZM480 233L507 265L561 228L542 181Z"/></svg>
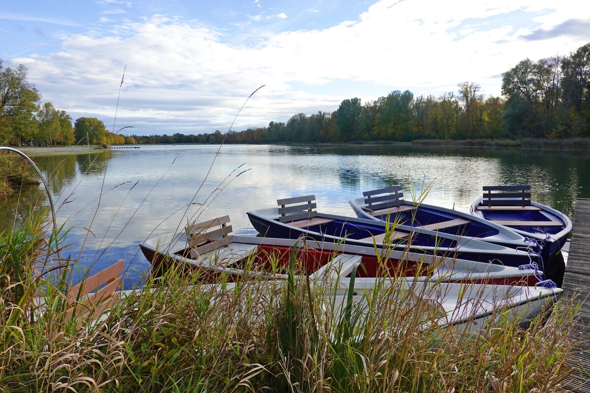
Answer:
<svg viewBox="0 0 590 393"><path fill-rule="evenodd" d="M317 217L317 212L314 210L316 209L315 200L315 195L277 199L277 204L280 206L278 221L298 228L332 222L332 219Z"/></svg>

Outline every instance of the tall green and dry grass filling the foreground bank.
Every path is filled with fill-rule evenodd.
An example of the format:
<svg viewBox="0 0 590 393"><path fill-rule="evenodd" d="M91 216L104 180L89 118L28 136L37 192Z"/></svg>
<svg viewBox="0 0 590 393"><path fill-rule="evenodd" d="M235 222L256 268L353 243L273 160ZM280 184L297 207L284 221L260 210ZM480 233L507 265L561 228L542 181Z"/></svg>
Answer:
<svg viewBox="0 0 590 393"><path fill-rule="evenodd" d="M173 266L96 322L67 312L70 254L42 216L0 236L1 391L553 392L573 370L568 299L527 330L499 310L466 335L395 285L337 309L292 274L214 289Z"/></svg>

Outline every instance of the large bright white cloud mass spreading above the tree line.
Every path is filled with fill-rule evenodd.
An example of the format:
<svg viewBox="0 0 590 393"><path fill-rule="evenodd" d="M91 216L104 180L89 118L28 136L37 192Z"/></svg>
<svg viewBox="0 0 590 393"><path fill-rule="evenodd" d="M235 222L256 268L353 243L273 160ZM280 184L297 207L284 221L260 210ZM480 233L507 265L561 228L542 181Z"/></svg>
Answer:
<svg viewBox="0 0 590 393"><path fill-rule="evenodd" d="M245 98L266 84L238 118L234 129L240 130L286 121L294 113L333 111L344 98L365 102L397 89L437 95L473 81L483 93L499 95L499 75L520 60L586 44L568 35L521 39L539 26L550 29L575 15L590 15L585 3L559 11L551 6L547 1L455 1L453 6L381 1L354 21L261 33L248 42L225 39L223 29L156 15L117 25L114 34L67 35L60 52L18 61L30 68L44 100L74 118L92 115L106 123L112 121L127 65L117 122L136 126L138 134L223 130ZM510 12L523 10L530 23L520 20L519 27L486 20L507 21ZM250 18L277 21L287 15ZM346 90L346 84L352 87ZM332 93L335 85L340 87ZM366 87L366 95L359 86Z"/></svg>

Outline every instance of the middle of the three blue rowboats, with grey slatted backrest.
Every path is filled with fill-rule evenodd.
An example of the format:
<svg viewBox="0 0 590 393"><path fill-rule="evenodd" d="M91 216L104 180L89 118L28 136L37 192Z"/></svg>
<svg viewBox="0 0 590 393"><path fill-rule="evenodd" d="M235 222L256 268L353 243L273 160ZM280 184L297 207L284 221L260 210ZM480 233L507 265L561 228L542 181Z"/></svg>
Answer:
<svg viewBox="0 0 590 393"><path fill-rule="evenodd" d="M392 186L363 192L362 198L350 200L350 206L362 219L388 221L450 235L466 236L514 249L532 247L540 252L534 240L505 226L473 214L453 209L404 200L401 187Z"/></svg>

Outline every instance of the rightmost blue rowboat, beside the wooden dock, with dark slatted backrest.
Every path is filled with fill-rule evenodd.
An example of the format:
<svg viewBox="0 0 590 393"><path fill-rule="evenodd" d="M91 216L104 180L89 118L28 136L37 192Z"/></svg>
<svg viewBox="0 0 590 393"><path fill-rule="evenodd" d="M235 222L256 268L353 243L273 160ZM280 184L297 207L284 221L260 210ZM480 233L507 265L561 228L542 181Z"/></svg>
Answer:
<svg viewBox="0 0 590 393"><path fill-rule="evenodd" d="M516 233L535 239L543 246L541 256L546 272L558 282L565 262L559 250L572 231L566 214L530 200L530 186L484 186L483 194L471 205L471 214L509 227Z"/></svg>

